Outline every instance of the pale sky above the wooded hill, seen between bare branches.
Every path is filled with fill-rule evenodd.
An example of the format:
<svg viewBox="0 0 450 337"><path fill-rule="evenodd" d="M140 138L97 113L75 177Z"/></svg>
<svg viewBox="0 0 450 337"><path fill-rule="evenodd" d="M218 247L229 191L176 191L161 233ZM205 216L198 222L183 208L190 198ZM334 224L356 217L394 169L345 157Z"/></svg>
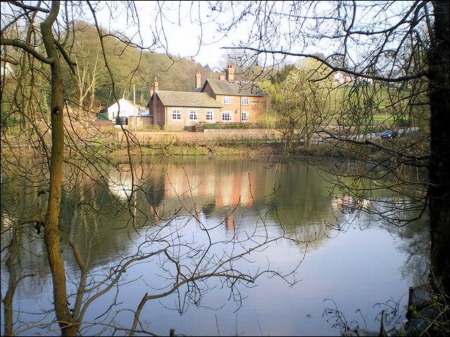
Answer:
<svg viewBox="0 0 450 337"><path fill-rule="evenodd" d="M226 5L231 3L230 1L221 2ZM364 10L364 2L360 1L358 3L362 4L359 10ZM243 4L245 6L245 1ZM282 1L274 1L271 4L275 4L274 6L277 7L276 10L280 12L285 10L285 8L282 8ZM327 4L329 2L323 1L318 6L323 7L327 6ZM334 3L332 4L334 6ZM391 10L396 10L396 7L408 7L409 3L407 1L395 1L394 5L391 6ZM238 28L234 27L228 31L228 36L224 36L224 33L219 32L218 29L228 27L231 24L233 15L234 17L240 15L240 10L237 9L238 6L241 6L240 3L233 2L233 6L228 6L226 10L212 11L209 8L211 6L210 1L135 1L138 17L135 17L133 10L127 10L123 7L123 4L116 1L99 1L95 6L97 6L97 19L102 27L109 28L112 31L121 31L139 45L151 46L151 51L160 53L167 51L171 55L186 57L188 59L193 57L196 62L203 66L208 64L214 71L219 71L221 67L226 66L226 54L232 52L232 50L221 48L233 47L240 42L247 45L245 41L247 41L249 35L250 24L252 24L253 20L261 19L261 17L257 18L256 15L250 14L248 17L245 17L245 20L240 20ZM74 8L76 10L76 7ZM2 6L3 9L4 6ZM63 12L64 10L61 10L60 14L62 15ZM92 17L89 17L90 10L87 7L84 8L83 12L86 15L86 20L92 19ZM371 22L370 13L370 10L368 10L365 15L364 13L358 15L358 22L362 27L364 27L362 20ZM386 13L386 15L388 14ZM393 17L394 21L396 20L395 15L391 14L390 16ZM247 18L248 22L246 21ZM140 35L137 34L137 20L139 20ZM301 27L308 29L308 27L314 27L316 22L320 21L305 21ZM277 29L282 32L280 36L283 37L289 35L289 32L292 31L290 30L292 27L287 24L280 24ZM253 32L259 34L257 29L254 29ZM266 32L261 33L266 34ZM156 45L154 44L155 36L159 39ZM200 36L203 38L201 45ZM284 39L273 42L274 45L269 46L269 49L274 48L274 50L280 50L282 48L284 51L291 52L323 52L325 55L331 54L329 52L332 47L331 45L325 45L322 48L311 48L309 42L306 45L302 41L293 42L285 41ZM168 47L168 50L165 50L163 46ZM294 48L295 50L289 48ZM292 57L288 60L288 63L295 63L297 59ZM270 61L268 59L268 63L265 65L270 65Z"/></svg>

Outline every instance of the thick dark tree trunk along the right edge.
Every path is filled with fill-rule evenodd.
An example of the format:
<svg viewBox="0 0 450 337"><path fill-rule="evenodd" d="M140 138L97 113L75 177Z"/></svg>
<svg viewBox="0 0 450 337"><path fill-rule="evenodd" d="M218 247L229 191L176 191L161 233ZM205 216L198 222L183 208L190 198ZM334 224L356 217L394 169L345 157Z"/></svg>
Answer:
<svg viewBox="0 0 450 337"><path fill-rule="evenodd" d="M449 1L433 1L434 41L428 55L430 80L431 265L438 285L449 293Z"/></svg>

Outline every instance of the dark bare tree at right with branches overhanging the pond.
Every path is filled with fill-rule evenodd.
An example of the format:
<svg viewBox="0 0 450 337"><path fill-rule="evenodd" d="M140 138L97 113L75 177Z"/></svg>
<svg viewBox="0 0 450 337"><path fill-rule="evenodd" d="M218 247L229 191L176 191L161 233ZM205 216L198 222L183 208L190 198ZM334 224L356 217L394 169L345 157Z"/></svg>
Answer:
<svg viewBox="0 0 450 337"><path fill-rule="evenodd" d="M355 151L360 158L369 155L366 162L373 165L369 170L360 165L355 177L379 180L389 175L391 180L384 187L408 196L408 186L422 186L425 194L414 197L414 208L418 216L429 209L432 268L439 285L448 285L449 1L245 1L233 2L233 8L229 3L210 8L215 15L229 14L229 24L221 26L225 34L246 22L248 38L228 48L245 51L245 57L259 64L309 57L329 67L324 78L340 71L353 83L364 80L372 89L377 87L371 92L364 91L362 85L348 90L347 104L341 110L348 122L371 121L374 109L368 107L376 103L381 87L390 101L386 109L395 116L394 128L401 129L402 120L420 121L426 128L424 120L429 119L430 138L383 143L364 137L337 137L329 131L328 137L339 148L345 145L346 152ZM318 51L328 57L319 57L315 54ZM423 131L426 135L427 130ZM376 151L384 154L381 159L373 155ZM426 170L427 178L416 180L399 174L408 168L411 172ZM342 180L335 182L354 194L365 191L361 185L351 188L341 184ZM400 186L402 191L397 189Z"/></svg>

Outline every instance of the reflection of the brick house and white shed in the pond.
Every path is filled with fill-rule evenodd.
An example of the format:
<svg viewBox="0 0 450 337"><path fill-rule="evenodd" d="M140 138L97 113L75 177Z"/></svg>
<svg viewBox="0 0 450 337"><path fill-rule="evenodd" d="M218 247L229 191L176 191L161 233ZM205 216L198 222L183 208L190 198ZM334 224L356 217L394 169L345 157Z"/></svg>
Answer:
<svg viewBox="0 0 450 337"><path fill-rule="evenodd" d="M217 217L223 226L233 230L233 217L226 219L239 206L238 213L253 207L253 195L261 194L266 185L266 170L248 169L224 164L216 169L211 162L145 164L135 173L135 199L133 206L151 219L168 219L174 214L186 212L198 222L201 217ZM124 168L126 169L126 167ZM140 171L139 171L140 170ZM142 175L146 174L143 179ZM109 191L126 201L132 192L130 171L114 171L109 182ZM259 183L257 183L259 182ZM253 187L260 191L253 191ZM181 210L181 212L180 212ZM236 219L236 216L235 216Z"/></svg>

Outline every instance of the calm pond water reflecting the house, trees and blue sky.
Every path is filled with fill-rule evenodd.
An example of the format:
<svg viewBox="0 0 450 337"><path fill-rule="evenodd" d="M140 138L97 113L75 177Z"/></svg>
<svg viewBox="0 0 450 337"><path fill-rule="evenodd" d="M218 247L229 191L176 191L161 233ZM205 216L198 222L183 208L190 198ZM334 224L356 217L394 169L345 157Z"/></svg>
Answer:
<svg viewBox="0 0 450 337"><path fill-rule="evenodd" d="M84 335L126 334L111 325L131 327L132 310L145 294L163 294L196 275L203 276L147 301L139 329L157 335L175 329L185 336L339 336L346 322L378 331L381 310L390 313L391 326L404 320L408 289L425 274L425 224L396 227L367 212L388 212L387 201L395 200L400 213L406 201L383 191L370 201L336 191L330 196L330 183L306 162L156 158L135 175L126 165L108 173L101 183L76 175L66 182L62 250L69 292L80 284L71 235L81 256L89 256L87 287L98 285L84 303L111 283L99 282L115 266L139 260L90 303ZM39 327L54 319L42 234L22 231L17 257L9 268L5 264L13 220L45 209L39 189L23 190L13 205L2 187L1 296L11 280L18 281L18 334L57 335L50 331L55 325ZM167 249L179 268L165 254L140 259L158 249ZM259 276L247 282L245 275ZM69 303L73 308L73 297Z"/></svg>

